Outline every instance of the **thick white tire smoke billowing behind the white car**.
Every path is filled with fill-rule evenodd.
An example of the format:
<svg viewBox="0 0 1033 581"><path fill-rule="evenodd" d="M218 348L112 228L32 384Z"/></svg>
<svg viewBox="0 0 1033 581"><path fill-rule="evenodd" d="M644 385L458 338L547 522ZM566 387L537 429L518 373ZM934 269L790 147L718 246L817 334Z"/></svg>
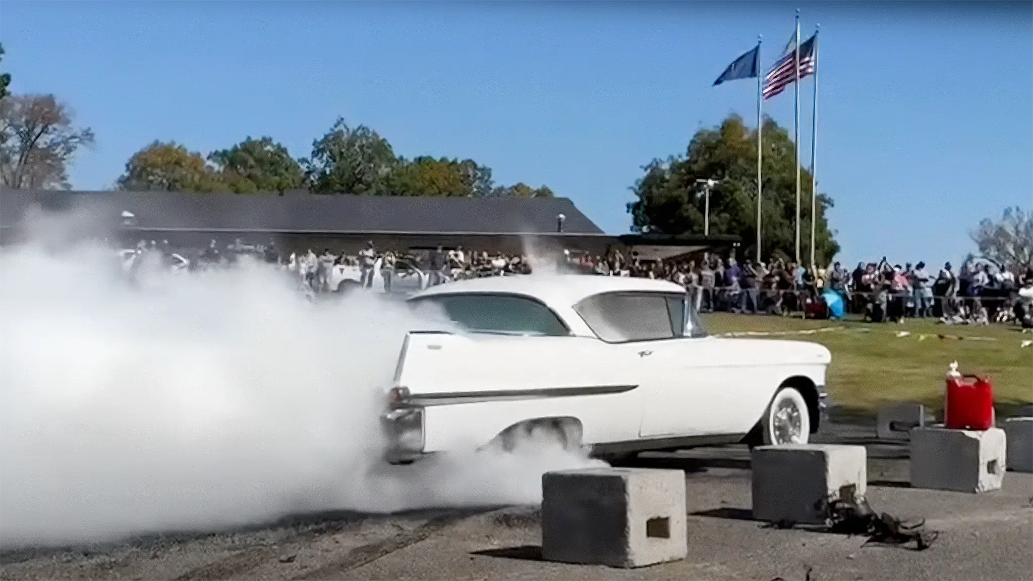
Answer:
<svg viewBox="0 0 1033 581"><path fill-rule="evenodd" d="M246 262L127 284L112 249L0 250L0 546L321 510L534 503L559 450L380 461L404 305Z"/></svg>

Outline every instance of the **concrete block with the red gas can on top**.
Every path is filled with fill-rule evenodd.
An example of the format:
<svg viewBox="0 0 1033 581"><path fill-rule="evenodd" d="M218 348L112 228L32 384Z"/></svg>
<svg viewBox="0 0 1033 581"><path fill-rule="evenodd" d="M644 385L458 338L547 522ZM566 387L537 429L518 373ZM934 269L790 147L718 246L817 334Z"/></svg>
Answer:
<svg viewBox="0 0 1033 581"><path fill-rule="evenodd" d="M911 431L911 487L957 492L1001 488L1006 462L1004 430L948 430L922 427Z"/></svg>

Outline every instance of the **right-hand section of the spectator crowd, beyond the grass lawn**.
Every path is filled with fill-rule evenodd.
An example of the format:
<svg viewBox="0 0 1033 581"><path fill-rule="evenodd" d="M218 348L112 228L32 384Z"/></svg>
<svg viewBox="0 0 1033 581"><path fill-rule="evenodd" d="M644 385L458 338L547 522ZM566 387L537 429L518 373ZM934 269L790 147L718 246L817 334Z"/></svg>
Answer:
<svg viewBox="0 0 1033 581"><path fill-rule="evenodd" d="M1019 322L1033 327L1033 268L1016 275L989 261L967 262L960 273L947 263L935 274L925 263L858 263L849 271L840 263L827 269L805 268L772 259L740 264L735 258L703 255L695 261L640 261L619 252L574 261L598 275L662 278L685 286L701 312L717 310L775 315L828 315L827 294L839 296L847 312L875 323L907 317L937 317L948 325Z"/></svg>

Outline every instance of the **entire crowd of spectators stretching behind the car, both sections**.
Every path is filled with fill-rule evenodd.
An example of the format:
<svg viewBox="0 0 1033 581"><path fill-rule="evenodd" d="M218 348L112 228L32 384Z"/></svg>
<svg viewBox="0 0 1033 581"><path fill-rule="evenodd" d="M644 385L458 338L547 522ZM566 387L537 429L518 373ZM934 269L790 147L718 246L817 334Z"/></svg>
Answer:
<svg viewBox="0 0 1033 581"><path fill-rule="evenodd" d="M148 245L140 242L138 248ZM151 249L168 255L167 242L150 243ZM239 240L220 249L216 241L195 252L191 268L234 262L242 254L283 265L301 274L314 292L326 290L330 270L346 266L361 273L361 285L371 286L374 271L390 292L392 280L402 269L418 270L430 285L483 276L530 274L527 254L490 253L462 246L429 251L378 250L369 242L356 254L317 254L313 250L285 257L272 241L245 245ZM828 268L805 268L794 262L771 259L754 264L734 257L703 254L700 259L647 261L636 252L625 256L618 250L605 256L564 251L559 268L569 272L602 276L666 279L693 295L700 312L728 311L807 316L827 316L825 299L838 295L845 310L871 322L903 322L908 317L937 317L948 325L990 324L1015 320L1033 327L1033 269L1014 273L990 261L969 261L954 272L950 263L935 272L925 263L912 266L858 263L851 271L840 263Z"/></svg>

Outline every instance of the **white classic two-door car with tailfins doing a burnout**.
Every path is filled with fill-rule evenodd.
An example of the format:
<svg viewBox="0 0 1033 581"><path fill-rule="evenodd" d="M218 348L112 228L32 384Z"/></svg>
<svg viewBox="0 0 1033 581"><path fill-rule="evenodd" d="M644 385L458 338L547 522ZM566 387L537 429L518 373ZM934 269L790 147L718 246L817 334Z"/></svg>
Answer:
<svg viewBox="0 0 1033 581"><path fill-rule="evenodd" d="M807 442L824 346L709 336L677 284L555 275L458 281L409 298L462 333L407 334L381 417L387 459L511 450L544 431L615 460L647 450ZM428 311L422 309L427 308Z"/></svg>

